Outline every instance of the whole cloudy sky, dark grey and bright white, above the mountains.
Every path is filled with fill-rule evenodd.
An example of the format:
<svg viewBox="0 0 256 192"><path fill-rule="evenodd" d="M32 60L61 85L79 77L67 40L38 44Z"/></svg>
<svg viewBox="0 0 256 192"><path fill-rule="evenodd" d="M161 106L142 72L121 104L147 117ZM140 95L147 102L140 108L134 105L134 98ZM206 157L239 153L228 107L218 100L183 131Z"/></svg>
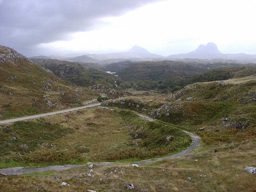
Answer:
<svg viewBox="0 0 256 192"><path fill-rule="evenodd" d="M214 42L256 54L256 0L0 0L0 45L25 56L128 51L168 56Z"/></svg>

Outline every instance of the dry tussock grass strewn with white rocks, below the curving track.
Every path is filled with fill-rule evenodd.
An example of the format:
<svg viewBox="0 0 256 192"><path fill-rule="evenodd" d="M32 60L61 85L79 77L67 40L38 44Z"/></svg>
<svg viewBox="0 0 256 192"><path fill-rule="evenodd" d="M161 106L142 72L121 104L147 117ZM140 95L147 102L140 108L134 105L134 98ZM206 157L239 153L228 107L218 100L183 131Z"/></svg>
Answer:
<svg viewBox="0 0 256 192"><path fill-rule="evenodd" d="M231 145L236 147L230 149ZM139 165L139 168L121 163L94 164L94 177L85 176L90 171L87 166L65 171L0 176L0 187L8 189L13 186L13 191L127 191L125 186L132 183L135 185L133 191L255 191L255 175L243 170L256 163L251 148L255 146L255 139L221 143L205 147L204 152L195 151L179 158ZM212 148L217 152L211 153ZM116 169L118 172L114 172ZM54 176L57 179L51 179ZM71 186L61 186L61 182Z"/></svg>

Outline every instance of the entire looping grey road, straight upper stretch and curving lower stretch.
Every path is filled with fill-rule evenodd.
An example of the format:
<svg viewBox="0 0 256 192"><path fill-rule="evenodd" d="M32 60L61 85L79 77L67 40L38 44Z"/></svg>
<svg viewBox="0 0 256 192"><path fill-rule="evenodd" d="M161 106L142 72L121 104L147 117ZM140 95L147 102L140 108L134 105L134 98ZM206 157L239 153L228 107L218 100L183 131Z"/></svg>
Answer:
<svg viewBox="0 0 256 192"><path fill-rule="evenodd" d="M98 104L92 104L92 105L88 105L88 106L83 106L83 107L77 107L77 108L72 108L72 109L67 109L67 110L61 110L61 111L56 111L56 112L51 112L51 113L45 113L45 114L40 114L40 115L35 115L35 116L29 116L29 117L23 117L23 118L17 118L17 119L11 119L11 120L5 120L5 121L0 121L0 123L9 123L9 122L14 122L14 121L21 121L21 120L26 120L26 119L33 119L33 118L38 118L38 117L44 117L47 115L52 115L52 114L57 114L57 113L64 113L64 112L69 112L69 111L74 111L74 110L78 110L78 109L83 109L83 108L87 108L87 107L94 107L94 106L99 106L100 103ZM106 108L106 109L110 109L107 107L101 107L101 108ZM114 110L114 109L111 109ZM147 119L148 121L154 121L154 119L141 115L141 114L137 114L138 116ZM174 155L170 155L170 156L166 156L166 157L160 157L160 158L156 158L156 159L149 159L149 160L142 160L142 161L138 161L138 162L133 162L136 164L146 164L146 163L152 163L155 161L160 161L163 159L172 159L175 157L180 157L183 156L187 153L192 152L193 149L198 148L200 146L200 137L198 137L197 135L184 131L185 133L189 134L190 137L193 139L193 142L191 143L190 147L188 147L187 149L178 152ZM93 164L110 164L110 163L114 163L114 162L94 162ZM13 167L13 168L5 168L5 169L0 169L0 173L4 174L4 175L19 175L19 174L24 174L24 173L34 173L34 172L42 172L42 171L50 171L50 170L56 170L56 171L60 171L60 170L65 170L65 169L69 169L69 168L74 168L74 167L82 167L82 166L86 166L87 164L80 164L80 165L52 165L52 166L47 166L47 167Z"/></svg>

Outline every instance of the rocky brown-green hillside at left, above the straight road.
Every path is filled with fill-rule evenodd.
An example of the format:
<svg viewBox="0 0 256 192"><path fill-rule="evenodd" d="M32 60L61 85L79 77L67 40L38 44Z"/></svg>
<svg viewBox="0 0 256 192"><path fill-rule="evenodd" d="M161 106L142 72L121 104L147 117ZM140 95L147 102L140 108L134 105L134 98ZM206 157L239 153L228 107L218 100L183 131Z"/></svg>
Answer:
<svg viewBox="0 0 256 192"><path fill-rule="evenodd" d="M98 91L60 79L15 50L0 46L0 119L83 105Z"/></svg>

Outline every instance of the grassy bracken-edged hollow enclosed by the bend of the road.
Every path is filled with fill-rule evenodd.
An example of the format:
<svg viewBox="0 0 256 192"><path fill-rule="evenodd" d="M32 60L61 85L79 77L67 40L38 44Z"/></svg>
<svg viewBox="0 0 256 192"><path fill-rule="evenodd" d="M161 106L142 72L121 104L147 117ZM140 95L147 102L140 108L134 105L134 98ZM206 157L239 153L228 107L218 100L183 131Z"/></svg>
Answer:
<svg viewBox="0 0 256 192"><path fill-rule="evenodd" d="M0 167L138 160L165 155L191 143L179 126L102 108L0 126ZM167 141L168 136L171 139Z"/></svg>

